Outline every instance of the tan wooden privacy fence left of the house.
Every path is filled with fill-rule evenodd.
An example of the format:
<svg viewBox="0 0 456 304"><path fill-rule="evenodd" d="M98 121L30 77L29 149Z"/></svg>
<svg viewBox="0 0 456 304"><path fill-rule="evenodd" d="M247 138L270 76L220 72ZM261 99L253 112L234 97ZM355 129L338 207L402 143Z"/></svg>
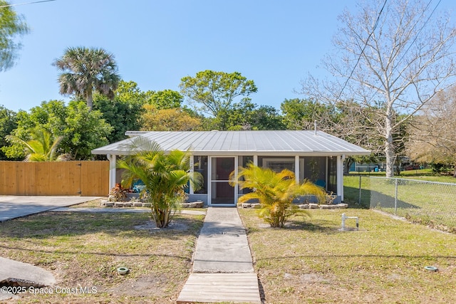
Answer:
<svg viewBox="0 0 456 304"><path fill-rule="evenodd" d="M108 196L109 162L0 162L0 194Z"/></svg>

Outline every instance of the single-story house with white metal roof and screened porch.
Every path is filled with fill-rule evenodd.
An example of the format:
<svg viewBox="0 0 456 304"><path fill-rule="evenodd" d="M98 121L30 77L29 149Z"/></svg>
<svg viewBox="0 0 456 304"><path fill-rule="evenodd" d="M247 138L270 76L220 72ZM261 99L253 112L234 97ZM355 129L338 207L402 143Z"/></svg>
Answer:
<svg viewBox="0 0 456 304"><path fill-rule="evenodd" d="M127 132L130 137L154 140L162 150L190 150L191 166L204 177L202 189L191 189L190 201L202 200L208 206L236 206L247 189L229 185L229 174L253 162L274 171L290 169L296 182L309 179L343 201L343 160L348 155L371 152L321 131L182 131ZM122 140L92 151L106 154L110 161L110 188L121 181L115 169L118 157L129 154Z"/></svg>

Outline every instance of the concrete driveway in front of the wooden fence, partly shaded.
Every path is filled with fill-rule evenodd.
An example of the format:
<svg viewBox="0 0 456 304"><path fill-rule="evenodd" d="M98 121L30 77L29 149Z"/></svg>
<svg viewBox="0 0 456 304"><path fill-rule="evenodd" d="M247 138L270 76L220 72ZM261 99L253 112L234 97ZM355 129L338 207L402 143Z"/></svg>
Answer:
<svg viewBox="0 0 456 304"><path fill-rule="evenodd" d="M101 196L0 195L0 222L100 198Z"/></svg>

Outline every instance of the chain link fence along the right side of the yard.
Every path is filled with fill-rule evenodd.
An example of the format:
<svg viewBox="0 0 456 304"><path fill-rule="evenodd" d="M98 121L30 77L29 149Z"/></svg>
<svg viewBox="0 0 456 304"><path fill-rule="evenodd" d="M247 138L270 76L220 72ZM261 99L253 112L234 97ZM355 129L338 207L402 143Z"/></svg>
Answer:
<svg viewBox="0 0 456 304"><path fill-rule="evenodd" d="M360 206L456 233L456 184L359 176Z"/></svg>

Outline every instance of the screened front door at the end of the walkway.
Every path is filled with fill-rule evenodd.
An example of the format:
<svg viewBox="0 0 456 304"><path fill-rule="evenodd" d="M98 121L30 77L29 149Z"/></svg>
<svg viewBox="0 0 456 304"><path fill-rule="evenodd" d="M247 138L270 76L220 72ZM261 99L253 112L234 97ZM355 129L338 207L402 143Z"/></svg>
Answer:
<svg viewBox="0 0 456 304"><path fill-rule="evenodd" d="M229 174L236 168L235 157L211 157L209 205L236 206L236 187L229 182Z"/></svg>

